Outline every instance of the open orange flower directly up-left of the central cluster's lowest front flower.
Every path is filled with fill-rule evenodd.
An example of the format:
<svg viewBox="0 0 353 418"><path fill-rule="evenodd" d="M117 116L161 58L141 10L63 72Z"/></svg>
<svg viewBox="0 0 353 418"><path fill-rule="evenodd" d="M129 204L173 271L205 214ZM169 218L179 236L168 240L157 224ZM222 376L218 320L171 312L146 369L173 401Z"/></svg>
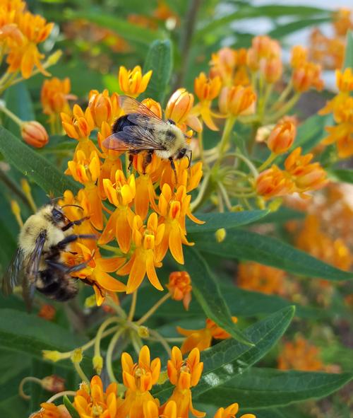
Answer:
<svg viewBox="0 0 353 418"><path fill-rule="evenodd" d="M103 179L104 192L110 203L116 207L109 217L99 243L109 243L114 237L119 243L122 252L128 252L131 245L131 223L133 211L130 208L131 202L136 195L135 176L131 174L126 180L123 171L116 170L115 185L112 181Z"/></svg>

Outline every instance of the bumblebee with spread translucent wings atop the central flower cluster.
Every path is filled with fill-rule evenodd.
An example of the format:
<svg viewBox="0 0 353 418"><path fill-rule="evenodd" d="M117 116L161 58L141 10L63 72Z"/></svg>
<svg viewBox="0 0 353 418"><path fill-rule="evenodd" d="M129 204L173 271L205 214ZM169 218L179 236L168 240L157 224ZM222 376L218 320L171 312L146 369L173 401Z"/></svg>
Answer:
<svg viewBox="0 0 353 418"><path fill-rule="evenodd" d="M152 154L168 159L175 172L174 160L189 159L192 151L186 139L189 137L177 127L173 120L157 117L145 105L126 95L119 96L119 105L126 115L119 117L112 127L112 135L104 139L103 145L115 151L128 151L130 166L133 155L147 151L143 161L143 173L152 161Z"/></svg>

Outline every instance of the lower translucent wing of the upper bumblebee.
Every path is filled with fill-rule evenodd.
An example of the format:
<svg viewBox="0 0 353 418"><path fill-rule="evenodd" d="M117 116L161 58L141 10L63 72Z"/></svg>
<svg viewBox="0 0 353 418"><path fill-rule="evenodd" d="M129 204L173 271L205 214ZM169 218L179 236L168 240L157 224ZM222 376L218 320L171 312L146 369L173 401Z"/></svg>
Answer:
<svg viewBox="0 0 353 418"><path fill-rule="evenodd" d="M143 127L127 126L120 132L115 132L103 141L103 146L115 151L147 151L150 149L164 151L166 148Z"/></svg>

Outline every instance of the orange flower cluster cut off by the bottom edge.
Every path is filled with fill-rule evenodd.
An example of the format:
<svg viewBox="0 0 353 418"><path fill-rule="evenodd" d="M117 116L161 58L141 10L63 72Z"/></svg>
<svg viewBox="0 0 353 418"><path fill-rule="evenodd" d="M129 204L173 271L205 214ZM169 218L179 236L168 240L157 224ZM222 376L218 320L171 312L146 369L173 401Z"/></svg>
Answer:
<svg viewBox="0 0 353 418"><path fill-rule="evenodd" d="M186 359L178 347L173 347L171 359L167 363L167 376L174 386L167 402L160 405L160 400L153 397L150 391L160 380L160 359L150 359L150 349L142 347L138 362L134 363L128 353L121 356L123 382L126 390L121 393L116 383L110 383L106 390L99 376L94 376L87 383L81 383L77 390L73 407L80 418L188 418L205 417L205 412L193 407L191 388L198 385L203 372L200 352L193 349ZM42 410L32 418L68 418L64 405L43 403ZM239 405L233 403L227 408L220 408L214 418L236 418ZM256 418L245 414L240 418Z"/></svg>

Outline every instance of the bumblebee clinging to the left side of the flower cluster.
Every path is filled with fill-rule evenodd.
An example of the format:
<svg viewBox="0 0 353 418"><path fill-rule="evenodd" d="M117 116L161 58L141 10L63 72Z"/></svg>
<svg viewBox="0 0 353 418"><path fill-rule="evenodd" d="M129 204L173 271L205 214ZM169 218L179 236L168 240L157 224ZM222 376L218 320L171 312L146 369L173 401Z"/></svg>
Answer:
<svg viewBox="0 0 353 418"><path fill-rule="evenodd" d="M20 230L18 250L4 274L2 288L8 295L15 286L22 284L28 308L35 289L55 301L68 301L78 292L76 279L71 274L83 269L87 262L68 266L62 261L62 255L78 238L96 237L72 233L73 226L80 225L88 217L70 221L63 212L66 206L79 207L46 204L30 216Z"/></svg>

